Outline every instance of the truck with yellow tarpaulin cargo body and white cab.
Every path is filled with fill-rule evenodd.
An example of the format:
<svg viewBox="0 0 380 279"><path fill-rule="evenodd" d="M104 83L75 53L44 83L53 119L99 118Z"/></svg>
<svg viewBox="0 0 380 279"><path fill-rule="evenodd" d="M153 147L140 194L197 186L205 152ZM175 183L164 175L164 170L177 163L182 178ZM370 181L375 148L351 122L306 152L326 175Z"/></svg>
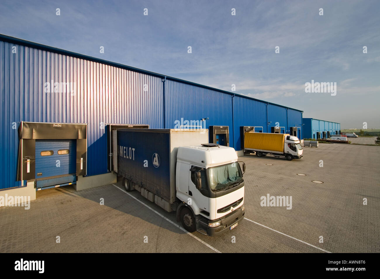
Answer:
<svg viewBox="0 0 380 279"><path fill-rule="evenodd" d="M244 153L255 152L262 157L272 154L275 157L285 157L288 161L302 158L302 147L298 137L289 134L252 133L245 132Z"/></svg>

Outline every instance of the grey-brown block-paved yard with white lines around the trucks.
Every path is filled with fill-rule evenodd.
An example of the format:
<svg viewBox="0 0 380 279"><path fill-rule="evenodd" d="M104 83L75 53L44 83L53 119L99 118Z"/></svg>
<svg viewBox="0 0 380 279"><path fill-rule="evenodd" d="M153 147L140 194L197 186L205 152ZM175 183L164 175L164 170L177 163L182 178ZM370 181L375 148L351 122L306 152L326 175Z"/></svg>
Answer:
<svg viewBox="0 0 380 279"><path fill-rule="evenodd" d="M247 219L218 237L184 232L174 213L120 183L44 190L30 210L0 208L0 252L380 252L379 155L378 147L320 144L300 160L239 158ZM291 196L291 210L261 206L267 194Z"/></svg>

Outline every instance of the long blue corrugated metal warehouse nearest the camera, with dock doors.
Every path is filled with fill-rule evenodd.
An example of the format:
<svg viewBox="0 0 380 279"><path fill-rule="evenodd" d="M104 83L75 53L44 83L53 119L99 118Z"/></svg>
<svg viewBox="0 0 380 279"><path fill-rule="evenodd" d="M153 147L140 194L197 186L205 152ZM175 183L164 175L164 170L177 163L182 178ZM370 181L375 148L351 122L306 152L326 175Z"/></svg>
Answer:
<svg viewBox="0 0 380 279"><path fill-rule="evenodd" d="M1 189L32 195L47 171L36 161L53 155L76 189L114 181L109 124L202 126L236 151L242 126L302 137L298 109L5 35L0 43Z"/></svg>

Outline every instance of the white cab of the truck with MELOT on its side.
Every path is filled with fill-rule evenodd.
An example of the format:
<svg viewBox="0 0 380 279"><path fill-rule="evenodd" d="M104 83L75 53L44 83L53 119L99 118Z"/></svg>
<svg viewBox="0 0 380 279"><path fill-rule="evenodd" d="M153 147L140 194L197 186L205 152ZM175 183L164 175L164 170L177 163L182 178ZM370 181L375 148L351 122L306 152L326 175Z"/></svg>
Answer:
<svg viewBox="0 0 380 279"><path fill-rule="evenodd" d="M185 229L214 236L236 227L244 217L242 168L231 147L178 147L176 195L183 202L177 219Z"/></svg>

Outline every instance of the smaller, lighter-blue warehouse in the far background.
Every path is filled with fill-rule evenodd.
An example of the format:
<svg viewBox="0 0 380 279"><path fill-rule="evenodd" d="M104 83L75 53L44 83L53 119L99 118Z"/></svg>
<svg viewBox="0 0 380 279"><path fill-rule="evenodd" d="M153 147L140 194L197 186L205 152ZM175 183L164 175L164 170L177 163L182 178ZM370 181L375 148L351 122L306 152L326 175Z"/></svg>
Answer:
<svg viewBox="0 0 380 279"><path fill-rule="evenodd" d="M315 118L302 118L304 139L327 139L340 134L340 123Z"/></svg>

